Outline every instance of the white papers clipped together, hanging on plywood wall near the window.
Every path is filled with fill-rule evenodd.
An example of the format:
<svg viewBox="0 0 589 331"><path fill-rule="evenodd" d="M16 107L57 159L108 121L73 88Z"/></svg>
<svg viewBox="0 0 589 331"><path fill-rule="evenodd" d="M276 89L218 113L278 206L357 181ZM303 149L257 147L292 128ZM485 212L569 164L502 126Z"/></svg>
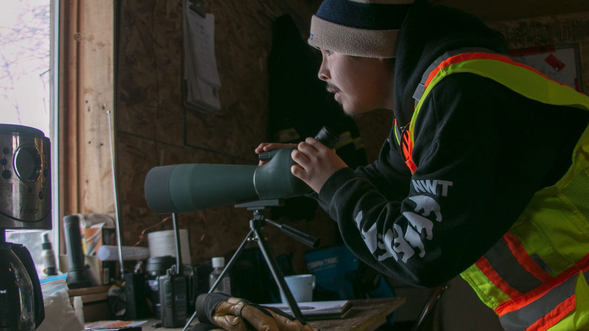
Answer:
<svg viewBox="0 0 589 331"><path fill-rule="evenodd" d="M186 103L199 111L219 110L221 80L214 44L214 15L198 15L184 2L184 81Z"/></svg>

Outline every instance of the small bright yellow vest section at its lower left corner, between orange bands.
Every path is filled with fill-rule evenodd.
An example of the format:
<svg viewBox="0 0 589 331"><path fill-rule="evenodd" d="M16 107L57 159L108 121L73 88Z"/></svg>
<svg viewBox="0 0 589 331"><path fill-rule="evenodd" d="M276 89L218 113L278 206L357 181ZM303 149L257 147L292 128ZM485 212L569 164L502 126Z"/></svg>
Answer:
<svg viewBox="0 0 589 331"><path fill-rule="evenodd" d="M476 264L472 264L460 276L475 290L479 299L491 309L511 300L511 297L495 286Z"/></svg>

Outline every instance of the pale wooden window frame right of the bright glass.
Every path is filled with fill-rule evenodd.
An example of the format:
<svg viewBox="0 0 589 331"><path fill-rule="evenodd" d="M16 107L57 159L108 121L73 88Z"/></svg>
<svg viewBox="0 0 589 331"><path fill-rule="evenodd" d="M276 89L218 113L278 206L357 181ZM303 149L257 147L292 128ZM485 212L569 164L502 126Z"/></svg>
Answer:
<svg viewBox="0 0 589 331"><path fill-rule="evenodd" d="M114 109L115 8L118 1L59 1L57 137L54 183L59 252L64 254L62 220L71 214L114 214L106 111ZM113 153L116 155L116 143ZM54 228L55 229L55 228Z"/></svg>

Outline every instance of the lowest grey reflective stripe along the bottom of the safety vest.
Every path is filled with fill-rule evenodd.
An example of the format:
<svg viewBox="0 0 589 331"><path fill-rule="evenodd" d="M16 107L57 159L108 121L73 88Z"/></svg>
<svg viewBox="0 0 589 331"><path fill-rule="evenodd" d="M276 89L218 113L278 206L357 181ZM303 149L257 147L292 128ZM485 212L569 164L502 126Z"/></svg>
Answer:
<svg viewBox="0 0 589 331"><path fill-rule="evenodd" d="M587 276L589 276L589 272L585 273L585 278ZM578 274L568 277L567 280L534 302L499 317L501 325L507 331L522 331L527 329L537 322L537 320L554 310L558 304L575 294L577 277Z"/></svg>

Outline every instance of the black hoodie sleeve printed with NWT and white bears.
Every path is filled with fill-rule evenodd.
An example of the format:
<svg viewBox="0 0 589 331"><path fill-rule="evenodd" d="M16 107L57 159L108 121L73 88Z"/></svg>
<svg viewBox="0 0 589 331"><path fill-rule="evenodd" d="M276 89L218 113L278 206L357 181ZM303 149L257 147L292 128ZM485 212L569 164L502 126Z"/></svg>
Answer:
<svg viewBox="0 0 589 331"><path fill-rule="evenodd" d="M444 283L488 251L541 188L566 135L553 130L551 111L487 78L451 75L417 118L410 183L386 182L406 196L391 200L359 176L366 170L344 168L319 200L376 270L416 286Z"/></svg>

